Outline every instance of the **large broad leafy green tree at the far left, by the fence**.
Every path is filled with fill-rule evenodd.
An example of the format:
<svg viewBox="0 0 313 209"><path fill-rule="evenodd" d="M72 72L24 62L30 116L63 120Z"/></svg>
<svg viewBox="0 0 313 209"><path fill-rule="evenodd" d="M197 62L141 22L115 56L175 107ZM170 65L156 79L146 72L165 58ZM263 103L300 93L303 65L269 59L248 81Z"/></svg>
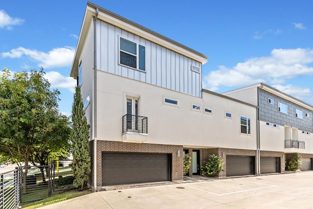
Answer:
<svg viewBox="0 0 313 209"><path fill-rule="evenodd" d="M0 153L19 166L24 162L24 193L30 156L56 131L60 92L50 91L44 75L43 69L16 72L12 77L4 69L0 75Z"/></svg>

